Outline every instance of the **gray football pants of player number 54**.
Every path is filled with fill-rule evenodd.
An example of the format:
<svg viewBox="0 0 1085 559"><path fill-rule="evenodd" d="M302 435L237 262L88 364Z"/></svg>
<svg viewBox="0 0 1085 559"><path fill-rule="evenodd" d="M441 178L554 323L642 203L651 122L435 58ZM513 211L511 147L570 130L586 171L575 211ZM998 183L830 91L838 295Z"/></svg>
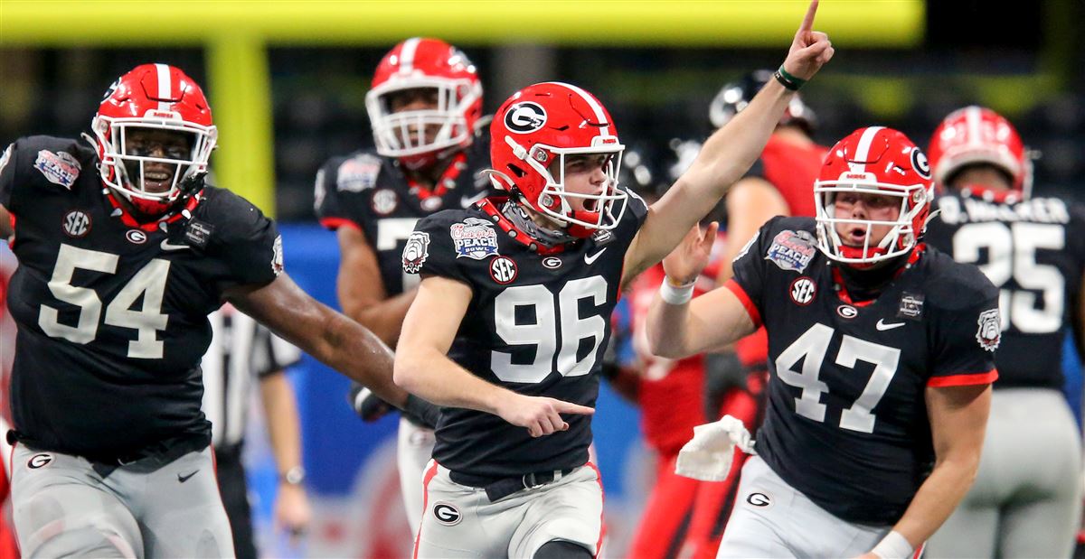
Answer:
<svg viewBox="0 0 1085 559"><path fill-rule="evenodd" d="M78 456L18 444L12 512L24 557L233 557L209 447L103 478ZM183 481L182 481L183 480Z"/></svg>

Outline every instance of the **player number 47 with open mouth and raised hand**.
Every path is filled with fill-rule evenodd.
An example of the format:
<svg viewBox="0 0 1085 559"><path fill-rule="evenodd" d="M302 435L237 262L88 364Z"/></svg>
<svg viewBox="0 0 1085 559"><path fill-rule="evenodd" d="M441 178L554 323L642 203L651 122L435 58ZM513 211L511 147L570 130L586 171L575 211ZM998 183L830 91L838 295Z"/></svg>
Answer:
<svg viewBox="0 0 1085 559"><path fill-rule="evenodd" d="M998 300L974 266L924 247L933 188L904 134L859 129L829 151L817 217L763 225L725 287L690 301L712 242L697 230L664 260L648 318L658 354L768 332L756 446L725 416L678 457L718 479L733 443L757 454L717 557L908 557L967 491L997 377Z"/></svg>

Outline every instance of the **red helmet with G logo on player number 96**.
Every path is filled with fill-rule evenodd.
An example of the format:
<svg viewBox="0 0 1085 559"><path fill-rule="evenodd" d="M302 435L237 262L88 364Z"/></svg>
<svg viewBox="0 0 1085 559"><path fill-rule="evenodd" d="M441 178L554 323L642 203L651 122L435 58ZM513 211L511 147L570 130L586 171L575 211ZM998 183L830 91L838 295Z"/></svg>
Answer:
<svg viewBox="0 0 1085 559"><path fill-rule="evenodd" d="M610 113L591 93L558 81L528 86L509 98L490 123L490 179L536 211L558 220L569 234L590 236L598 230L617 225L614 204L628 194L617 187L625 146ZM565 157L579 154L608 155L603 171L607 184L601 193L579 194L565 190ZM557 160L559 176L549 166ZM592 205L574 210L570 198Z"/></svg>

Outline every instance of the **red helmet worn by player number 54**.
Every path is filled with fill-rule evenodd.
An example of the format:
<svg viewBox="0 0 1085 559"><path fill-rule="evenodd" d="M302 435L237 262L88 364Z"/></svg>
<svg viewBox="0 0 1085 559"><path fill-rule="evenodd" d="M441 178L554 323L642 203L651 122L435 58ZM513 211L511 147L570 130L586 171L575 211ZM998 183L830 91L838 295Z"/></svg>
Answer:
<svg viewBox="0 0 1085 559"><path fill-rule="evenodd" d="M186 134L190 140L189 157L175 159L128 153L126 139L137 129ZM142 64L117 78L105 92L91 120L91 130L102 182L148 216L168 211L181 197L182 181L207 170L207 159L218 139L210 106L200 86L180 69L166 64ZM165 192L144 188L144 167L153 162L176 166L170 187ZM139 176L131 177L129 167L138 168Z"/></svg>

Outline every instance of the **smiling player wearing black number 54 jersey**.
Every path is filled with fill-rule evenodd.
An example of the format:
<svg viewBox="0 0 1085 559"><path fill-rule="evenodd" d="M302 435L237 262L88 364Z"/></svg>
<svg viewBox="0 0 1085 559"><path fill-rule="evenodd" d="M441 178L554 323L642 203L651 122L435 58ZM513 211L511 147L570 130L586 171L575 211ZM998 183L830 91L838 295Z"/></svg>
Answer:
<svg viewBox="0 0 1085 559"><path fill-rule="evenodd" d="M283 273L275 223L204 185L217 131L191 78L137 66L91 128L89 146L29 136L0 157L0 236L20 263L8 298L20 547L230 556L200 412L208 313L229 300L390 402L408 398L387 347Z"/></svg>

